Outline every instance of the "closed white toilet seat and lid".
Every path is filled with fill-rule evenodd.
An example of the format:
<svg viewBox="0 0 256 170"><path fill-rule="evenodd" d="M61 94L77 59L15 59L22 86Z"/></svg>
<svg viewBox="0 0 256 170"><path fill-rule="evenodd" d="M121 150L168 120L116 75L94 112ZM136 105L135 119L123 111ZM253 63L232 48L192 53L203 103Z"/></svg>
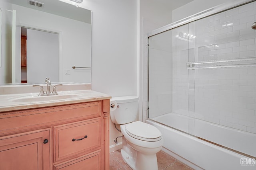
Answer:
<svg viewBox="0 0 256 170"><path fill-rule="evenodd" d="M136 121L125 125L125 131L128 135L142 141L159 141L162 139L162 133L154 126Z"/></svg>

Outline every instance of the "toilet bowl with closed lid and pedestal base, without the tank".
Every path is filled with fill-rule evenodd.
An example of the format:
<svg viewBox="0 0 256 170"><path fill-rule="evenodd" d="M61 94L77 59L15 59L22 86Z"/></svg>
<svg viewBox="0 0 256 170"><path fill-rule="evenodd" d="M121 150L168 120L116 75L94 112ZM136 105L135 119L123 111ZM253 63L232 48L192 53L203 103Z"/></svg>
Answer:
<svg viewBox="0 0 256 170"><path fill-rule="evenodd" d="M121 149L124 161L134 170L158 170L156 153L164 144L161 132L141 121L120 125L120 128L124 135Z"/></svg>

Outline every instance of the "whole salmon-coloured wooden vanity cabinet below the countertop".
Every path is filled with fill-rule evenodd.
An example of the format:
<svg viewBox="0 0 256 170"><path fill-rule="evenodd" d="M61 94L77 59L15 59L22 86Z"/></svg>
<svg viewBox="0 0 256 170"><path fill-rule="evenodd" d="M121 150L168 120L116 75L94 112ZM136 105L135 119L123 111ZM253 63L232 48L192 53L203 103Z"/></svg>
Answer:
<svg viewBox="0 0 256 170"><path fill-rule="evenodd" d="M0 112L0 169L108 170L109 99Z"/></svg>

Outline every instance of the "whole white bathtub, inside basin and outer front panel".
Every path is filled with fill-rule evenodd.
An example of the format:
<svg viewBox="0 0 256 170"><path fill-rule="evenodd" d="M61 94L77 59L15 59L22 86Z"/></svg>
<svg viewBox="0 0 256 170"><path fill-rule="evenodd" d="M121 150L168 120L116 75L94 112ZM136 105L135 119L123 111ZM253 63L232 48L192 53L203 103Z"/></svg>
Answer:
<svg viewBox="0 0 256 170"><path fill-rule="evenodd" d="M256 169L256 134L176 113L167 113L147 119L146 123L157 127L162 132L164 138L163 151L194 169ZM188 125L193 127L192 130L188 128ZM189 131L192 131L194 135L188 134ZM212 143L198 137L207 139ZM249 158L245 154L240 154L240 152L252 157Z"/></svg>

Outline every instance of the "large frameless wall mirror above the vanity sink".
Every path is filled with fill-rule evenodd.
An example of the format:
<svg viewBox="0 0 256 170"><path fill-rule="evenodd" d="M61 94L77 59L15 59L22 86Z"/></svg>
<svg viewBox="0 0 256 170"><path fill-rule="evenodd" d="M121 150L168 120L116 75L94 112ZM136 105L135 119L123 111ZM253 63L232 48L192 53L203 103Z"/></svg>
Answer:
<svg viewBox="0 0 256 170"><path fill-rule="evenodd" d="M7 5L6 5L7 4ZM12 10L16 10L16 56L15 56L15 72L16 81L15 83L21 83L21 70L24 68L34 67L34 70L40 73L45 73L48 70L48 74L36 74L38 80L30 79L27 77L28 83L40 83L44 82L45 77L52 77L56 74L56 68L58 69L57 78L52 82L90 82L91 81L91 11L77 7L76 5L68 4L60 0L8 0L6 4L0 2L4 8L4 27L6 32L11 28L8 19L12 19ZM6 9L5 9L6 8ZM6 12L7 11L7 12ZM25 65L21 64L21 35L22 28L34 29L38 31L44 31L49 33L57 34L58 37L58 53L50 58L49 55L42 55L38 59L34 59L41 55L42 51L48 51L47 47L42 46L41 40L38 39L38 54L27 55L26 60L29 61ZM11 38L13 36L9 36ZM34 38L33 38L34 39ZM4 42L3 42L4 41ZM3 43L9 43L11 40L5 38L2 40ZM51 43L52 41L49 41ZM30 43L31 44L31 43ZM29 47L26 47L29 48ZM34 48L33 48L34 49ZM10 47L5 47L3 50L10 50ZM12 76L10 67L12 64L11 53L5 52L4 63L2 63L2 70L0 70L0 84L11 83ZM34 57L31 60L29 57ZM51 65L50 63L54 60L58 64ZM34 62L31 62L34 61ZM36 62L35 62L36 61ZM43 62L42 62L43 61ZM30 65L28 65L30 64ZM39 70L39 66L42 70ZM76 68L72 68L76 66ZM82 67L82 68L78 68ZM55 70L54 70L55 69ZM27 69L26 71L31 70ZM27 72L31 75L31 72ZM18 76L17 76L18 75Z"/></svg>

